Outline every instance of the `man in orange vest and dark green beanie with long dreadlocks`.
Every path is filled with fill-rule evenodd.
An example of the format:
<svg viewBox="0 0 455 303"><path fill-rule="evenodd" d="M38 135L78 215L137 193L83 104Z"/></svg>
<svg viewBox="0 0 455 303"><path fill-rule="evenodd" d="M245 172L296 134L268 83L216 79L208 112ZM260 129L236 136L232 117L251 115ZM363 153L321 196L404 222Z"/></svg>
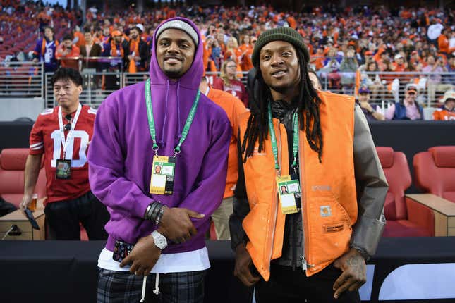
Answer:
<svg viewBox="0 0 455 303"><path fill-rule="evenodd" d="M388 185L365 116L354 97L313 88L309 58L289 27L253 51L258 94L239 126L229 225L234 274L258 303L360 302L384 229Z"/></svg>

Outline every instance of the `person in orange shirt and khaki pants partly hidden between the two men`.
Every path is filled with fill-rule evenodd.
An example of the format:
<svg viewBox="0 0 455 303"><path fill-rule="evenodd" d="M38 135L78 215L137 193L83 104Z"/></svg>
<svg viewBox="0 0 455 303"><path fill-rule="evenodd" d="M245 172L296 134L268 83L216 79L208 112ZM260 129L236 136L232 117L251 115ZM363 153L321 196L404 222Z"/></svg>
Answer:
<svg viewBox="0 0 455 303"><path fill-rule="evenodd" d="M231 122L232 137L229 143L228 155L228 172L226 177L226 187L224 189L223 202L219 208L212 214L212 220L215 225L215 233L217 240L231 240L229 233L229 216L233 211L233 189L236 187L238 178L238 160L237 160L237 140L238 140L238 124L240 116L245 111L245 106L242 101L233 95L223 92L219 89L210 87L207 83L207 78L202 77L199 85L200 92L214 101L215 104L221 106Z"/></svg>

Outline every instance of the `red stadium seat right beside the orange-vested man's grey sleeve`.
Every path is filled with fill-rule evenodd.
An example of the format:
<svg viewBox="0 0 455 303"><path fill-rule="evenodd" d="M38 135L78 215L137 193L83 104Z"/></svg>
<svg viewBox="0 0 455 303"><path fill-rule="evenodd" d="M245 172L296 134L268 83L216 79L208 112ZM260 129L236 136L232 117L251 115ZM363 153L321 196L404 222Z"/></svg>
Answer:
<svg viewBox="0 0 455 303"><path fill-rule="evenodd" d="M384 204L387 219L384 237L430 237L435 235L435 216L431 209L407 199L405 190L411 186L408 161L392 147L376 147L389 191Z"/></svg>

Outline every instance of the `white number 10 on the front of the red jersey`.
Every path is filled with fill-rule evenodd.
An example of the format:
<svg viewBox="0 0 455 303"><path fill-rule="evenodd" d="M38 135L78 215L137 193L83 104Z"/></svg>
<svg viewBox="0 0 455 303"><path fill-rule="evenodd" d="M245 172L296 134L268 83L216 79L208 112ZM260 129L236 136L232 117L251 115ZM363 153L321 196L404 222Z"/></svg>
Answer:
<svg viewBox="0 0 455 303"><path fill-rule="evenodd" d="M57 160L60 159L61 155L61 139L60 139L60 130L54 130L51 134L51 138L54 140L54 156L52 157L51 166L57 167ZM73 149L74 149L74 138L80 138L80 149L79 149L79 159L72 160ZM73 137L71 141L68 142L66 146L66 155L65 159L72 160L71 167L83 167L87 163L87 143L88 143L88 134L85 130L74 130Z"/></svg>

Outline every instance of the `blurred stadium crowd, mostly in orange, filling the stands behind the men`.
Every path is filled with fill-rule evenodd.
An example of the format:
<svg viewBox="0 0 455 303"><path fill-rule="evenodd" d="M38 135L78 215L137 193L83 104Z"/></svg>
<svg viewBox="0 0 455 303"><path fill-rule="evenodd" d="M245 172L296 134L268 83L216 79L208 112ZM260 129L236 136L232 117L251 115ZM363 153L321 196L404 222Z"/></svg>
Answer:
<svg viewBox="0 0 455 303"><path fill-rule="evenodd" d="M21 5L9 0L1 1L0 8L0 61L34 58L45 61L47 71L56 70L59 64L77 67L77 61L64 58L79 56L111 57L104 63L85 61L81 68L148 70L154 29L166 18L188 17L204 39L205 71L221 73L213 86L233 93L245 105L248 97L238 81L241 73L236 72L253 67L251 54L260 33L282 26L304 37L310 67L325 83L324 89L358 94L363 86L370 90L372 101L397 102L406 85L413 84L418 91L427 89L430 104L455 85L455 22L454 10L449 8L356 6L340 10L328 4L296 13L271 6L162 6L144 13L133 8L101 13L92 7L87 9L85 23L80 11L58 5ZM47 35L46 27L54 35Z"/></svg>

